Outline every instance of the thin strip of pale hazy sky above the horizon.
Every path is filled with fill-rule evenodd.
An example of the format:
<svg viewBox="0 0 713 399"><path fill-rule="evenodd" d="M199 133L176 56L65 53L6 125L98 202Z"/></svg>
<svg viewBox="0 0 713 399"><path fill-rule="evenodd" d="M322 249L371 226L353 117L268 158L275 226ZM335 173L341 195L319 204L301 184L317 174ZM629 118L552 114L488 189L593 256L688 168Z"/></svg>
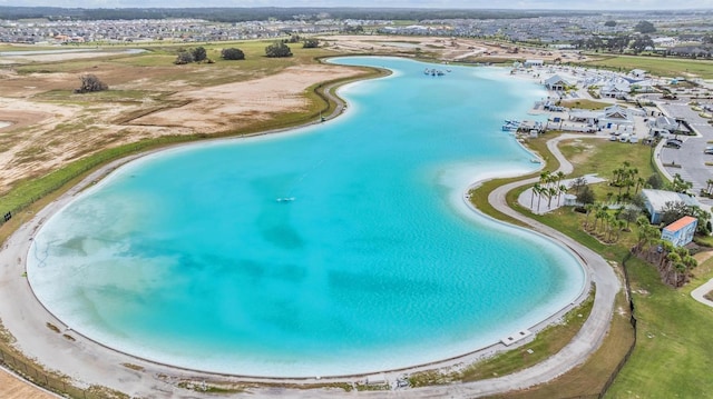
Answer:
<svg viewBox="0 0 713 399"><path fill-rule="evenodd" d="M713 8L713 0L0 0L0 6L121 7L413 7L569 10L665 10Z"/></svg>

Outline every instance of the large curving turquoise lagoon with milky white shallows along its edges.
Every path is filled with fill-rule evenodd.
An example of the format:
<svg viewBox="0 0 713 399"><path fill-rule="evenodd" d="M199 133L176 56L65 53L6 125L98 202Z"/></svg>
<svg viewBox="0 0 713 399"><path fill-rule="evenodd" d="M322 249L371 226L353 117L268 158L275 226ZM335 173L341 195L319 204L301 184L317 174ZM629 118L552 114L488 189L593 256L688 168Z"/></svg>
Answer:
<svg viewBox="0 0 713 399"><path fill-rule="evenodd" d="M119 168L37 235L42 303L156 361L329 376L469 352L578 296L569 252L462 200L479 178L535 169L500 124L537 87L488 68L333 62L394 73L342 88L336 120Z"/></svg>

